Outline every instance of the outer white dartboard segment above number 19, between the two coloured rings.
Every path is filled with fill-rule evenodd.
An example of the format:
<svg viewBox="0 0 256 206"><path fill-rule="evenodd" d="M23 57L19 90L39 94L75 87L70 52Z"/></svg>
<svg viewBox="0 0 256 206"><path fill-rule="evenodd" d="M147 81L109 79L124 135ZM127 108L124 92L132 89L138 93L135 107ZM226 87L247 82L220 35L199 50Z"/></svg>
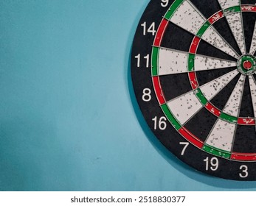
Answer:
<svg viewBox="0 0 256 206"><path fill-rule="evenodd" d="M212 131L207 138L207 145L231 152L232 143L235 136L235 127L235 124L218 118L215 126L212 128Z"/></svg>

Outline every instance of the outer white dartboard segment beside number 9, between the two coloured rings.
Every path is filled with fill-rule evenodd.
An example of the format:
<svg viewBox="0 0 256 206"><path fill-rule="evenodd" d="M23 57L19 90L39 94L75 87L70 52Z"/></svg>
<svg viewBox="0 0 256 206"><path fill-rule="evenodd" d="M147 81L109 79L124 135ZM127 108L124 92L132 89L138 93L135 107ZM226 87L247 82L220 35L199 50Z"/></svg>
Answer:
<svg viewBox="0 0 256 206"><path fill-rule="evenodd" d="M190 1L184 1L176 13L170 18L170 21L177 26L196 35L198 29L207 21L198 11L191 5Z"/></svg>

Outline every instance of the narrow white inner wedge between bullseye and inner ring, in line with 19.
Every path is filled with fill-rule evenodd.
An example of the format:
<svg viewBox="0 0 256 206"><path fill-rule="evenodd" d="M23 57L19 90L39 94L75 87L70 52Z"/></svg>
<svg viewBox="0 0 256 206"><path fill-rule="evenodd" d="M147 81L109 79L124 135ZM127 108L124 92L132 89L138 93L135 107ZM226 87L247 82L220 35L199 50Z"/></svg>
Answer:
<svg viewBox="0 0 256 206"><path fill-rule="evenodd" d="M235 88L232 91L228 102L226 102L223 110L224 113L229 114L230 116L238 117L245 79L245 75L241 75L240 79L238 79L238 83L235 85Z"/></svg>

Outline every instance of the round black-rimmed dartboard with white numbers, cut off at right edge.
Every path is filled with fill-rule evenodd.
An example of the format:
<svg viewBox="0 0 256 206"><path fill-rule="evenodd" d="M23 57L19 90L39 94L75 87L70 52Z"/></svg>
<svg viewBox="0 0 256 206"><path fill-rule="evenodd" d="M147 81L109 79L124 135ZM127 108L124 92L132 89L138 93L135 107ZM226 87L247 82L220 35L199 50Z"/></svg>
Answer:
<svg viewBox="0 0 256 206"><path fill-rule="evenodd" d="M256 0L151 0L131 77L156 138L188 165L256 180Z"/></svg>

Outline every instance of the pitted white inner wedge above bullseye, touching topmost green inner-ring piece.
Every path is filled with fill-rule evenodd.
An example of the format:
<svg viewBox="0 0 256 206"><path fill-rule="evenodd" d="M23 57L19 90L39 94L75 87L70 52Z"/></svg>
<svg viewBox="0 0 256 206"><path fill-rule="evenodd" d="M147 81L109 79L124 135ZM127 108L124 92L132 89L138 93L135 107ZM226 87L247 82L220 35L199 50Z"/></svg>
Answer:
<svg viewBox="0 0 256 206"><path fill-rule="evenodd" d="M229 23L229 27L238 43L239 49L242 54L246 54L246 45L243 37L243 19L241 13L232 13L226 15L226 20Z"/></svg>

